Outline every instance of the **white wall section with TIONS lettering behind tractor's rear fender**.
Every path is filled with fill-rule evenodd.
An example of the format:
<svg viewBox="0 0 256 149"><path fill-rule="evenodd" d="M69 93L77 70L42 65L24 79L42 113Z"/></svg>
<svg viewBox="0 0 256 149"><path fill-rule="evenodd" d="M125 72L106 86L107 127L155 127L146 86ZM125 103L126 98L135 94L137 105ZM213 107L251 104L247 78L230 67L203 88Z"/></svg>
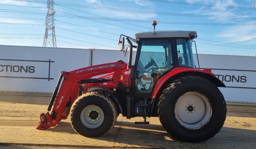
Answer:
<svg viewBox="0 0 256 149"><path fill-rule="evenodd" d="M211 68L226 88L227 101L256 102L256 57L199 54L201 68ZM198 67L196 55L194 55Z"/></svg>

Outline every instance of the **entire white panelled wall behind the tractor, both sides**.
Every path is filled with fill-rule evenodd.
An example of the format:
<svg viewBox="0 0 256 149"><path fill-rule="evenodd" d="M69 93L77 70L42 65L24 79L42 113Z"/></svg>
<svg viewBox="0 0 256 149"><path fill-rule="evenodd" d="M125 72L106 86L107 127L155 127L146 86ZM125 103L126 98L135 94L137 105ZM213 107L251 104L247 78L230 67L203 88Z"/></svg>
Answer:
<svg viewBox="0 0 256 149"><path fill-rule="evenodd" d="M118 50L43 48L0 45L0 90L52 92L62 70L123 60ZM136 51L133 51L134 62ZM196 55L194 55L198 67ZM147 61L147 58L145 58ZM148 59L149 60L149 59ZM161 66L161 60L159 65ZM201 68L212 72L226 84L219 88L227 101L256 102L256 57L199 54Z"/></svg>

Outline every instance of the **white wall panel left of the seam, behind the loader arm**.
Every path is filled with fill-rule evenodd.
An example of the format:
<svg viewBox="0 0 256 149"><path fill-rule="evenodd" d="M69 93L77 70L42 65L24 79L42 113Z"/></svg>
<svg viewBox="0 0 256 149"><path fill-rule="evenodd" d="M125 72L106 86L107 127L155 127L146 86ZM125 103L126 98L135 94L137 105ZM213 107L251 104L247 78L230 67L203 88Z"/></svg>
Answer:
<svg viewBox="0 0 256 149"><path fill-rule="evenodd" d="M90 66L90 50L0 46L0 90L53 92L60 72Z"/></svg>

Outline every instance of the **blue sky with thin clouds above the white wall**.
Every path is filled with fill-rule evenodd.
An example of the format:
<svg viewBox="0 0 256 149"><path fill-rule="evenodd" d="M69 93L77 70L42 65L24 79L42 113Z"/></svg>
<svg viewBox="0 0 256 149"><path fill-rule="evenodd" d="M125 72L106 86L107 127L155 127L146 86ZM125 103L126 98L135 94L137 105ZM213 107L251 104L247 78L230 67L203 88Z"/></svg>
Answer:
<svg viewBox="0 0 256 149"><path fill-rule="evenodd" d="M39 3L31 3L31 1ZM151 27L150 22L143 23L140 21L157 20L157 30L197 31L198 38L195 39L195 41L197 42L199 53L255 56L255 25L186 25L160 23L160 21L165 21L182 23L255 24L256 10L241 8L252 8L254 0L169 0L172 3L163 3L160 1L168 0L55 0L55 34L57 47L118 48L118 42L116 40L119 39L120 34L134 37L135 33L149 31ZM44 2L47 1L1 0L0 44L42 46L45 33L45 17L47 13L47 4L43 4ZM174 4L173 2L182 2L183 4ZM58 5L60 3L82 4L87 6L83 6L83 8L74 7L75 5L61 6ZM193 5L184 3L193 3ZM198 6L197 4L200 5ZM112 8L116 8L115 11L106 10L113 10ZM124 10L120 9L145 12L124 12ZM23 12L13 13L13 11ZM40 15L35 15L34 12ZM168 14L163 15L159 12L167 12ZM177 16L171 13L190 16ZM60 15L76 16L76 18L60 17ZM192 17L195 15L197 15L197 17ZM218 18L199 17L198 15L218 16ZM78 16L87 17L87 19L77 18ZM219 18L219 16L222 18ZM140 21L120 22L106 19L92 20L90 17ZM227 17L240 17L243 19L231 19Z"/></svg>

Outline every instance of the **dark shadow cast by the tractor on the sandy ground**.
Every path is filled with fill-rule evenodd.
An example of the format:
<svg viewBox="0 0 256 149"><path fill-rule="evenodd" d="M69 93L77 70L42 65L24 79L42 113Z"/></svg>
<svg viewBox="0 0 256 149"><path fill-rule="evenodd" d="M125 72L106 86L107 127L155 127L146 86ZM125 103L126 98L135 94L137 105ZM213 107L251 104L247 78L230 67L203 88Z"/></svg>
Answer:
<svg viewBox="0 0 256 149"><path fill-rule="evenodd" d="M120 125L121 124L121 125ZM253 129L253 128L252 128ZM77 134L69 122L60 122L53 132ZM173 139L162 125L135 125L134 122L117 121L114 129L103 137L92 137L99 141L114 143L114 147L149 147L149 148L254 148L256 130L223 127L208 141L187 143ZM87 141L84 138L81 141Z"/></svg>

